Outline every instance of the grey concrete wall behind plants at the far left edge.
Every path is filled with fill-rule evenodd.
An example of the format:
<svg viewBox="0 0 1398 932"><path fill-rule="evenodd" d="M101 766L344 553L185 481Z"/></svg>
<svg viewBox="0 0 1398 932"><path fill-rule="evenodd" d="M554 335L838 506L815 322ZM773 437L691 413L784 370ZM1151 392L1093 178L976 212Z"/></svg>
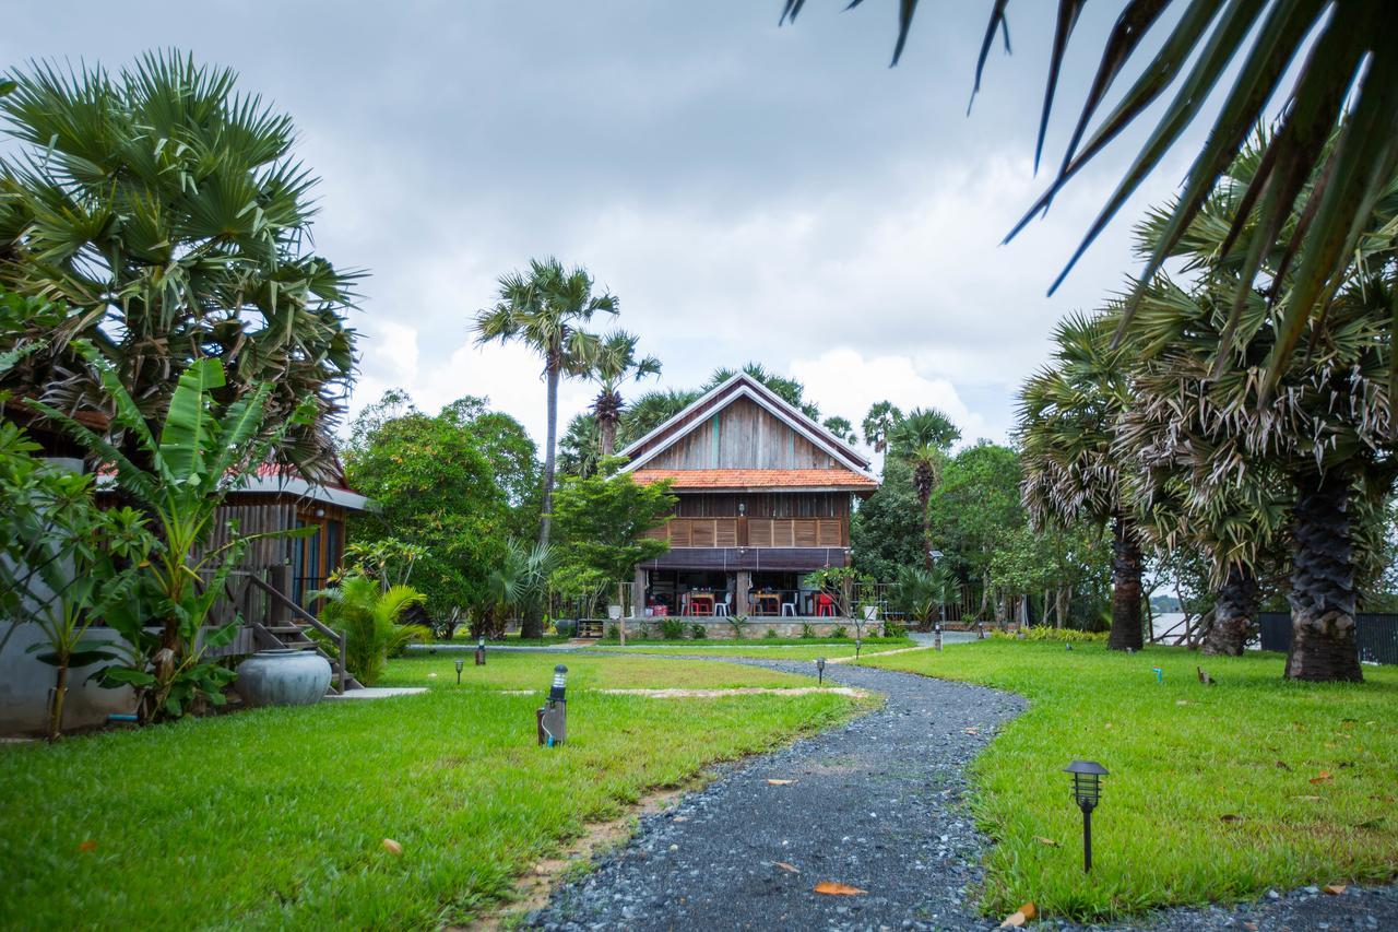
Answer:
<svg viewBox="0 0 1398 932"><path fill-rule="evenodd" d="M85 640L120 641L110 628L88 628ZM55 668L25 654L31 644L43 642L36 624L21 624L0 652L0 735L42 735L49 722L49 690ZM102 725L112 712L134 712L136 693L130 687L105 690L88 677L102 663L69 670L69 697L63 705L63 728Z"/></svg>

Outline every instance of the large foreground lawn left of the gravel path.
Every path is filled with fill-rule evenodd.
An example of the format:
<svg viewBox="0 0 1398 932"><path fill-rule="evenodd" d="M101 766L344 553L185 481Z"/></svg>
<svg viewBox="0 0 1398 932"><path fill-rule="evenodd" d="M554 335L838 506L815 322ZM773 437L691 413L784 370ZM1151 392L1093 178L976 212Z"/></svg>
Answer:
<svg viewBox="0 0 1398 932"><path fill-rule="evenodd" d="M527 661L516 669L492 658L487 669L547 680L555 658L528 659L527 676ZM390 675L429 663L394 661ZM681 662L615 663L625 672L587 677L633 682L644 668L658 679ZM0 924L470 922L589 821L854 708L830 694L650 700L570 689L569 744L544 750L537 705L535 696L438 683L401 698L0 749Z"/></svg>

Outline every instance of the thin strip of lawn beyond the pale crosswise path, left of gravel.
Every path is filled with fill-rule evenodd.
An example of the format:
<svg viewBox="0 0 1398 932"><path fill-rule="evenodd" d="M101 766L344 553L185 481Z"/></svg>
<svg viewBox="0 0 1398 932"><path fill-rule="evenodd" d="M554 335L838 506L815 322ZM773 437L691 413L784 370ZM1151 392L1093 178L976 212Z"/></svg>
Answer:
<svg viewBox="0 0 1398 932"><path fill-rule="evenodd" d="M487 651L485 666L475 666L470 654L414 652L394 661L379 686L428 686L456 689L456 661L461 659L461 689L548 690L554 666L568 668L568 691L593 689L712 689L744 686L811 686L808 677L777 670L763 670L735 663L706 663L650 656L597 656L584 654L512 654ZM436 676L432 676L432 675Z"/></svg>

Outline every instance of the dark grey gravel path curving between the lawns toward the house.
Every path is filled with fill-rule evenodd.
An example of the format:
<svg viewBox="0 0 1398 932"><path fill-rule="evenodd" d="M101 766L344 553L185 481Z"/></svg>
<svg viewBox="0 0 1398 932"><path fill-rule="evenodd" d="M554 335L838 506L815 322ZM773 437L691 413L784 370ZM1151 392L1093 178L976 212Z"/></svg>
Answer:
<svg viewBox="0 0 1398 932"><path fill-rule="evenodd" d="M809 673L809 663L756 662ZM1025 702L867 668L826 679L888 697L878 712L733 765L642 820L628 845L528 917L544 929L976 929L983 840L965 765ZM791 779L770 785L768 779ZM779 866L790 865L795 870ZM819 880L864 896L822 896Z"/></svg>

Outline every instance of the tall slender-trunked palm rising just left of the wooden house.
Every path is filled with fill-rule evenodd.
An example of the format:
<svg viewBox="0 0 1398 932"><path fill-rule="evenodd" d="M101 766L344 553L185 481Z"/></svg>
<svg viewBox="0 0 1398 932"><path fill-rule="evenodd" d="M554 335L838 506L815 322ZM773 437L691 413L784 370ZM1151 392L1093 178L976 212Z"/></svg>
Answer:
<svg viewBox="0 0 1398 932"><path fill-rule="evenodd" d="M597 313L617 313L617 298L593 294L586 269L563 269L554 257L530 260L528 274L512 271L499 280L493 308L475 315L475 341L519 340L544 360L548 385L548 437L544 441L544 502L538 543L548 546L554 508L554 470L558 446L558 383L563 376L591 371L600 347L596 334L583 329Z"/></svg>

